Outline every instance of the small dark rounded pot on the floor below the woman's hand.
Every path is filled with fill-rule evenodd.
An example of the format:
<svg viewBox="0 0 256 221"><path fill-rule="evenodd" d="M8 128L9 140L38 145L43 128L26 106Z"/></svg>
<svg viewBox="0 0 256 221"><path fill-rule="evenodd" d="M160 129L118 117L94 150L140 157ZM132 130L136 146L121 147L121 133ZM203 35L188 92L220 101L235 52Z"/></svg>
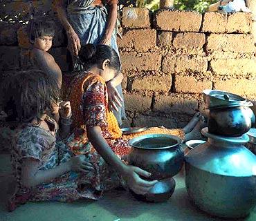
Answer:
<svg viewBox="0 0 256 221"><path fill-rule="evenodd" d="M131 195L134 195L134 198L137 200L142 200L146 202L164 202L169 200L174 193L176 182L174 178L168 178L165 180L160 180L156 183L152 189L149 190L145 195L139 195L131 191Z"/></svg>

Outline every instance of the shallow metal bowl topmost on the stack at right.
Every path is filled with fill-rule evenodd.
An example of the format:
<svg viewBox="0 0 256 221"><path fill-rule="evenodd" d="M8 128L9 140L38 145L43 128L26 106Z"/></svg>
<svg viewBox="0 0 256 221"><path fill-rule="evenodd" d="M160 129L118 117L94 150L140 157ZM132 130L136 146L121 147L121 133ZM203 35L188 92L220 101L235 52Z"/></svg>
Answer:
<svg viewBox="0 0 256 221"><path fill-rule="evenodd" d="M223 90L203 90L203 100L206 108L221 108L233 106L253 106L244 97Z"/></svg>

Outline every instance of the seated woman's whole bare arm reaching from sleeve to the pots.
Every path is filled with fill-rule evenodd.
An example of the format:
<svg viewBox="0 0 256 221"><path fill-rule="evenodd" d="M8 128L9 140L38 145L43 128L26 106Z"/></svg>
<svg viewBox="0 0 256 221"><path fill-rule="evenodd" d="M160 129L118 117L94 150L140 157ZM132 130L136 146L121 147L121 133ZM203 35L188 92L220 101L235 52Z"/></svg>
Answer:
<svg viewBox="0 0 256 221"><path fill-rule="evenodd" d="M116 169L116 171L122 175L125 180L127 180L129 188L135 193L145 194L152 188L152 186L154 186L154 184L156 184L156 180L146 181L140 178L140 175L143 177L149 177L151 173L143 171L136 166L127 166L116 156L115 153L113 153L109 144L107 144L107 141L102 136L100 126L87 128L87 133L91 144L95 147L98 153L109 165L112 166L113 169Z"/></svg>

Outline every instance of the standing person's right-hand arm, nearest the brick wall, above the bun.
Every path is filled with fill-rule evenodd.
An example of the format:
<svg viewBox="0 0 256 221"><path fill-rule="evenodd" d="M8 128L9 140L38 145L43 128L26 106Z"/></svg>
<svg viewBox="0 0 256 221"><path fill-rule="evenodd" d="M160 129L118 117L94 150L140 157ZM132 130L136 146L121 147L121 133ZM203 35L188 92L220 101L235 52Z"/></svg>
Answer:
<svg viewBox="0 0 256 221"><path fill-rule="evenodd" d="M107 29L106 29L105 35L101 41L102 44L107 44L110 46L111 36L112 36L113 30L116 28L117 17L118 17L118 4L111 3L109 5L109 17L108 17L108 21L107 21Z"/></svg>

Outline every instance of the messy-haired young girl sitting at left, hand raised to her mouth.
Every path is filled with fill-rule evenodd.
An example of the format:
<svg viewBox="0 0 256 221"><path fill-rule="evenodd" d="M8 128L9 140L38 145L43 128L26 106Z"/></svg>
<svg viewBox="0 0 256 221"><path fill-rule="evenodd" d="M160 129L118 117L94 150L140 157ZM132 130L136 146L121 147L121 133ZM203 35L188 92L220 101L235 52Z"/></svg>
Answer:
<svg viewBox="0 0 256 221"><path fill-rule="evenodd" d="M105 171L90 163L85 155L74 156L63 143L56 144L57 135L68 135L71 106L69 102L60 103L55 79L41 70L29 70L15 75L12 88L20 125L12 144L11 161L17 184L8 202L9 211L27 201L69 202L94 199L95 195L98 198L107 182L100 186L90 177L96 173L100 179L108 180L102 177L114 175L111 169ZM59 131L57 122L48 115L57 109Z"/></svg>

